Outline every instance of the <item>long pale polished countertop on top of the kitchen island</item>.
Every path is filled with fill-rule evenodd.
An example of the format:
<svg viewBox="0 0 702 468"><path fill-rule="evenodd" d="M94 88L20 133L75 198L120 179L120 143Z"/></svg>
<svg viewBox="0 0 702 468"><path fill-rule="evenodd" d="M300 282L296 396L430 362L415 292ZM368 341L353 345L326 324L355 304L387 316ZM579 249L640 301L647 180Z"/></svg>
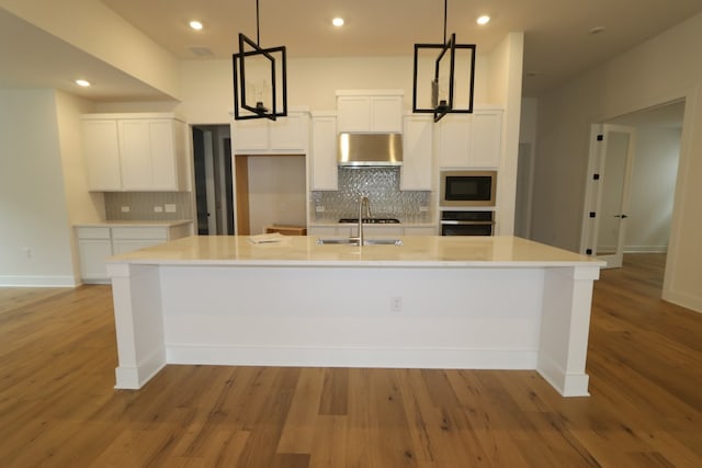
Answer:
<svg viewBox="0 0 702 468"><path fill-rule="evenodd" d="M386 238L387 236L373 236ZM253 243L247 236L192 236L115 255L109 264L541 267L603 266L578 253L517 237L404 236L401 246L317 244L317 236Z"/></svg>

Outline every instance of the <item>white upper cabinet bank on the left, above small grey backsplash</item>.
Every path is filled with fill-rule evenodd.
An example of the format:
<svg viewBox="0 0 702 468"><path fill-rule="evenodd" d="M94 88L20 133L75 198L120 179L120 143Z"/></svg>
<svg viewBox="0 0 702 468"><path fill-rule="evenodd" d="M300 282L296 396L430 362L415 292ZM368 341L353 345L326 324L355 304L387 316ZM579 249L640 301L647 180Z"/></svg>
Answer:
<svg viewBox="0 0 702 468"><path fill-rule="evenodd" d="M170 114L84 115L90 190L190 190L185 132Z"/></svg>

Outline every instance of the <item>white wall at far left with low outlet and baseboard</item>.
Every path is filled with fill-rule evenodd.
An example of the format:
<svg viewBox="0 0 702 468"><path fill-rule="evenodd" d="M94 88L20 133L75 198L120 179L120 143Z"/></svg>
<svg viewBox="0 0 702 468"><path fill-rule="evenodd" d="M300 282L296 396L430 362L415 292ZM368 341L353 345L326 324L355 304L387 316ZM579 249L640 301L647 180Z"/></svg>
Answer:
<svg viewBox="0 0 702 468"><path fill-rule="evenodd" d="M0 284L75 284L56 94L0 90Z"/></svg>

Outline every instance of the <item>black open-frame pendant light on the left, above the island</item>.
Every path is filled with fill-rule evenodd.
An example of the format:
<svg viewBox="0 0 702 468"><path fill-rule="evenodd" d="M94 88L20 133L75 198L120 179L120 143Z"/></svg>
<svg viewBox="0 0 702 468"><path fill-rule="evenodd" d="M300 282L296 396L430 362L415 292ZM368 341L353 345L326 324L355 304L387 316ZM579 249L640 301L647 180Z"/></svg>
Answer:
<svg viewBox="0 0 702 468"><path fill-rule="evenodd" d="M275 121L287 115L285 46L262 48L259 26L259 0L256 0L256 42L239 33L239 53L231 56L237 121Z"/></svg>

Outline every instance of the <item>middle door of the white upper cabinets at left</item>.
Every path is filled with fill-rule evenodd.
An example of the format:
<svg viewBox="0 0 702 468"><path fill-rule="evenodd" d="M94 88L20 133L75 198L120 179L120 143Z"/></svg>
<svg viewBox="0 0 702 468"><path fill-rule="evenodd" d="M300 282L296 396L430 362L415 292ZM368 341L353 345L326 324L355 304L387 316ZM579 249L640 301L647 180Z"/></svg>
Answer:
<svg viewBox="0 0 702 468"><path fill-rule="evenodd" d="M151 186L151 145L149 121L118 121L123 190L149 190Z"/></svg>

